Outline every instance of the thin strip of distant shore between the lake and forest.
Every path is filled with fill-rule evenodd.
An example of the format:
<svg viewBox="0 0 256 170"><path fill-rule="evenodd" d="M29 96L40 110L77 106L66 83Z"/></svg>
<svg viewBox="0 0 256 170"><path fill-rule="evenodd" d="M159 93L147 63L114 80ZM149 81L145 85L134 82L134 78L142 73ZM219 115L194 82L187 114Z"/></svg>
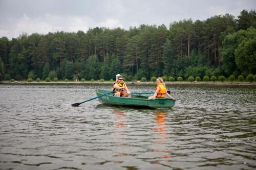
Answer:
<svg viewBox="0 0 256 170"><path fill-rule="evenodd" d="M3 81L0 84L6 85L112 85L113 82L110 81L86 81L86 82L7 82ZM125 82L127 85L156 85L155 82ZM256 83L249 82L165 82L166 85L174 85L174 86L256 86Z"/></svg>

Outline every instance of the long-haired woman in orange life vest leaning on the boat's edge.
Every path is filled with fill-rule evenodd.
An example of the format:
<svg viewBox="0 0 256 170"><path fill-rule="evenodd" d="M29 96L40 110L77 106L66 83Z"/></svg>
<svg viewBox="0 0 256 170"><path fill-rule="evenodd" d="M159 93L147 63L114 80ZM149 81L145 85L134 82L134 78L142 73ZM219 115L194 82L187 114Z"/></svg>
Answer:
<svg viewBox="0 0 256 170"><path fill-rule="evenodd" d="M172 98L174 100L174 98L172 96L170 96L169 93L167 93L163 79L161 77L158 77L156 82L157 82L156 91L155 91L154 95L149 96L148 99L155 100L156 98L164 98L164 96L166 94L169 98Z"/></svg>

